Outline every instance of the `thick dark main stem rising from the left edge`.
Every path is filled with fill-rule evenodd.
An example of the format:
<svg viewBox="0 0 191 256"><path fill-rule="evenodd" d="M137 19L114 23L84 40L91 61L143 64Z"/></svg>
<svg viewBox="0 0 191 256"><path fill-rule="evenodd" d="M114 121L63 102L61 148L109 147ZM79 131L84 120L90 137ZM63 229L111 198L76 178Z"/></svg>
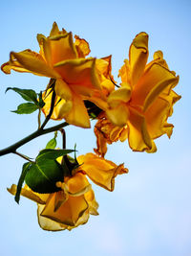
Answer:
<svg viewBox="0 0 191 256"><path fill-rule="evenodd" d="M1 155L5 155L5 154L8 154L8 153L15 153L15 151L20 148L21 146L23 146L24 144L30 142L31 140L41 136L41 135L44 135L44 134L47 134L47 133L50 133L50 132L53 132L55 130L58 130L59 128L65 128L67 127L69 124L64 122L64 123L61 123L57 126L54 126L52 128L45 128L43 129L42 127L40 129L37 129L36 131L32 132L32 134L30 134L29 136L25 137L24 139L16 142L15 144L12 144L10 147L6 148L6 149L3 149L0 151L0 156Z"/></svg>

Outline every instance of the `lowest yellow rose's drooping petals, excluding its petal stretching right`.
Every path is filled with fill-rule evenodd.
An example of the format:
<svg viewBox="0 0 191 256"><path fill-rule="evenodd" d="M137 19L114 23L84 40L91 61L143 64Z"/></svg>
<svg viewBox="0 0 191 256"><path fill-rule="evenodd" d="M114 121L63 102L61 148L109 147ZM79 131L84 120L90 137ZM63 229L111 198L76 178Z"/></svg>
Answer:
<svg viewBox="0 0 191 256"><path fill-rule="evenodd" d="M21 191L22 196L37 202L41 228L51 231L71 230L86 223L90 214L98 214L95 194L85 175L76 173L56 185L61 191L52 194L35 193L27 185ZM8 191L15 195L16 185L12 185Z"/></svg>

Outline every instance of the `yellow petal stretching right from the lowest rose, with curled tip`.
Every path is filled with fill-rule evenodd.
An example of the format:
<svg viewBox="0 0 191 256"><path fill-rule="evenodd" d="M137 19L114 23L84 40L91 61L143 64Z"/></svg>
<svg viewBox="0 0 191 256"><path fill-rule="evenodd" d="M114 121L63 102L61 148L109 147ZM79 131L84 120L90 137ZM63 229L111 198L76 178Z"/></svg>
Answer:
<svg viewBox="0 0 191 256"><path fill-rule="evenodd" d="M105 160L94 153L87 153L77 157L77 161L81 164L81 169L88 175L97 185L109 190L114 190L115 177L118 174L127 173L127 169L123 165L117 166L112 161Z"/></svg>

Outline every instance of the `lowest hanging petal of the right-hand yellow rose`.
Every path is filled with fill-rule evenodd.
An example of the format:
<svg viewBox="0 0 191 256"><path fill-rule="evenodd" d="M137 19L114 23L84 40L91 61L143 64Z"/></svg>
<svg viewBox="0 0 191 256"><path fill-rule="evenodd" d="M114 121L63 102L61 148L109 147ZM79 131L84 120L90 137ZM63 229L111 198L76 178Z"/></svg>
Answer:
<svg viewBox="0 0 191 256"><path fill-rule="evenodd" d="M152 149L152 141L149 136L145 117L136 109L130 107L130 116L128 120L129 146L133 151L145 151Z"/></svg>

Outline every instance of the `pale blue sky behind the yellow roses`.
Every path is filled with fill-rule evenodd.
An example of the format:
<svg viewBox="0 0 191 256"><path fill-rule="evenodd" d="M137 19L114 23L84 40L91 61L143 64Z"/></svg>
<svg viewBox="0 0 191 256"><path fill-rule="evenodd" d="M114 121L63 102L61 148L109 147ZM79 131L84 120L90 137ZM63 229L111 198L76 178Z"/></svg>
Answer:
<svg viewBox="0 0 191 256"><path fill-rule="evenodd" d="M129 46L139 32L149 35L149 60L163 52L171 70L180 75L176 92L182 98L169 121L174 124L169 140L156 140L153 154L132 152L128 143L114 143L106 158L123 163L129 174L116 178L114 192L94 186L99 216L73 231L40 229L36 204L21 198L17 205L7 192L16 183L24 160L17 155L0 157L0 248L1 254L77 256L189 256L191 255L191 150L190 150L190 1L3 1L0 5L0 62L11 51L38 52L37 34L49 35L53 21L59 28L85 38L91 56L113 55L113 75L128 58ZM37 126L36 113L16 115L22 103L7 87L42 90L47 78L12 72L0 73L0 149L6 148ZM55 124L51 123L52 125ZM56 123L57 124L57 123ZM93 124L94 127L94 124ZM96 147L93 128L66 128L67 147L77 144L79 154ZM42 136L20 151L35 157L53 134ZM59 137L59 139L61 139Z"/></svg>

